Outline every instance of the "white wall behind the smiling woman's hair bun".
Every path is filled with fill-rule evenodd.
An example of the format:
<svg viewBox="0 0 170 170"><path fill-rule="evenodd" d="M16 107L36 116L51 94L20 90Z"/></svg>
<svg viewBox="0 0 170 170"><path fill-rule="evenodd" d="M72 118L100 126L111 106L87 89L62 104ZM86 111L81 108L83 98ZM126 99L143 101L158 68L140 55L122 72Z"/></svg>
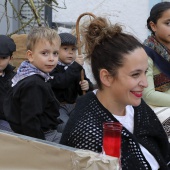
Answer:
<svg viewBox="0 0 170 170"><path fill-rule="evenodd" d="M57 2L63 7L64 0ZM67 9L53 10L53 22L76 22L80 14L91 12L96 16L106 16L113 23L125 25L125 30L141 41L148 35L146 20L149 0L65 0L65 4Z"/></svg>

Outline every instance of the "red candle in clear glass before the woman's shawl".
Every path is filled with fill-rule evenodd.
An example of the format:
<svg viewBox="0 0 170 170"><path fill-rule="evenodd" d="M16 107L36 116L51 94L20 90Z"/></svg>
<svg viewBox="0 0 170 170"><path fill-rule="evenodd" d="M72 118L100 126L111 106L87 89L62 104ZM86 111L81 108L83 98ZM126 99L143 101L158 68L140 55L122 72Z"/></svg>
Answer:
<svg viewBox="0 0 170 170"><path fill-rule="evenodd" d="M120 158L121 130L119 122L106 122L103 124L103 149L106 155Z"/></svg>

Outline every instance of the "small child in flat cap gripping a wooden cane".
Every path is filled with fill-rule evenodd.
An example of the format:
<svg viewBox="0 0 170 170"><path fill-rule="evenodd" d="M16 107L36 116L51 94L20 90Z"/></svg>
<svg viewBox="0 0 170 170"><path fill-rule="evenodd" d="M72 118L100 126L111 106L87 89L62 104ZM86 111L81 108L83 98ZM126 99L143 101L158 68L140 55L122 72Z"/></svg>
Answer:
<svg viewBox="0 0 170 170"><path fill-rule="evenodd" d="M76 55L76 37L70 33L60 33L59 36L61 38L59 61L50 73L54 76L50 82L56 98L61 103L60 119L63 123L58 126L57 130L63 132L70 114L74 111L77 97L83 94L82 91L93 90L93 85L83 70L83 57ZM81 81L81 70L84 71L83 81Z"/></svg>

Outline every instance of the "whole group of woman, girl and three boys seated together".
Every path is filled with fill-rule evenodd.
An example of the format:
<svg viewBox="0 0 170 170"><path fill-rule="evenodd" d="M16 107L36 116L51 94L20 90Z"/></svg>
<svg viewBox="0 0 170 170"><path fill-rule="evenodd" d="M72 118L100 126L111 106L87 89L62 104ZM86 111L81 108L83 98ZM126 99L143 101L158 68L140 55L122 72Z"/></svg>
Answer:
<svg viewBox="0 0 170 170"><path fill-rule="evenodd" d="M152 109L170 106L170 2L153 6L147 26L143 43L104 17L83 27L95 88L71 33L33 28L17 72L16 45L1 35L0 129L101 153L103 123L120 122L123 170L170 169L169 134Z"/></svg>

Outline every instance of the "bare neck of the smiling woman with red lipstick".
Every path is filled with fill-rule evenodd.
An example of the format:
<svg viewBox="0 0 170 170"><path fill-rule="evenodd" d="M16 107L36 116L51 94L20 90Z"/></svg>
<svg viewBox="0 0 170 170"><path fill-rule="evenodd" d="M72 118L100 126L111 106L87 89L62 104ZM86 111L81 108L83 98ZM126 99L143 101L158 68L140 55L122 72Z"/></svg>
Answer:
<svg viewBox="0 0 170 170"><path fill-rule="evenodd" d="M109 92L98 90L96 96L100 103L112 114L117 116L125 116L125 106L121 105L114 99Z"/></svg>

